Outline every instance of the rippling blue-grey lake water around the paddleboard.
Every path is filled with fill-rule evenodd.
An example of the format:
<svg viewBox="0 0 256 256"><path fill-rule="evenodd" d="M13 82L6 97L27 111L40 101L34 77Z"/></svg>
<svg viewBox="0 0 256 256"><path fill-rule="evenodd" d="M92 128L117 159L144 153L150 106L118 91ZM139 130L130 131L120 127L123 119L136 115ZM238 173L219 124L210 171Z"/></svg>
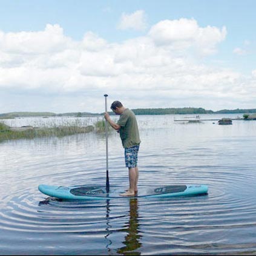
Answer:
<svg viewBox="0 0 256 256"><path fill-rule="evenodd" d="M105 185L105 134L1 142L0 254L256 255L256 121L174 121L182 117L137 116L139 189L206 184L208 195L61 202L39 192L39 183ZM79 122L89 125L99 118ZM5 123L43 126L70 120L77 122L51 117ZM108 153L110 186L127 188L115 131Z"/></svg>

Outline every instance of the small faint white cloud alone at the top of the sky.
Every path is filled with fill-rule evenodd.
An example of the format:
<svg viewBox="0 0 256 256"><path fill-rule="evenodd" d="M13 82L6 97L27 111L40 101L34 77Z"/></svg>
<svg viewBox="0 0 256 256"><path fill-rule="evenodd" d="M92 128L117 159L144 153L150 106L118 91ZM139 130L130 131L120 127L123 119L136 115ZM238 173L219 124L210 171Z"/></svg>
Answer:
<svg viewBox="0 0 256 256"><path fill-rule="evenodd" d="M126 14L123 13L117 28L120 30L133 29L133 30L145 30L146 15L145 11L137 10L134 13Z"/></svg>

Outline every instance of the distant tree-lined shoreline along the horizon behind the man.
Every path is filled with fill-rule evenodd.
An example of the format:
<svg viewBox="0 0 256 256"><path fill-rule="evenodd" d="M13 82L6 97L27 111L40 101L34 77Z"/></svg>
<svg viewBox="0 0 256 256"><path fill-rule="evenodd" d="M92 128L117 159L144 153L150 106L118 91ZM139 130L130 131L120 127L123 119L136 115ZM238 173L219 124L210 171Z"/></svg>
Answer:
<svg viewBox="0 0 256 256"><path fill-rule="evenodd" d="M163 115L163 114L245 114L256 113L256 108L240 110L205 110L204 108L137 108L132 109L136 115ZM110 114L114 114L111 113ZM103 113L71 112L71 113L52 113L52 112L10 112L0 114L0 119L10 119L15 117L53 117L53 116L73 116L89 117L103 116Z"/></svg>

